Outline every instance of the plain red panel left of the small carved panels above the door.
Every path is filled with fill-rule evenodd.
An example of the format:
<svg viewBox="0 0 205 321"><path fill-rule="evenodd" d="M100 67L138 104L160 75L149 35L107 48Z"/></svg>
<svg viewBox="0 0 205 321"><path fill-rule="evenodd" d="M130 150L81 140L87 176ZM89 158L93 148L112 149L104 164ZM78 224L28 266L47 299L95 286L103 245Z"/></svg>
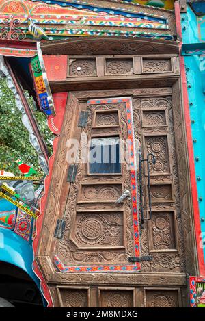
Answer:
<svg viewBox="0 0 205 321"><path fill-rule="evenodd" d="M67 55L44 55L44 65L49 81L66 80Z"/></svg>

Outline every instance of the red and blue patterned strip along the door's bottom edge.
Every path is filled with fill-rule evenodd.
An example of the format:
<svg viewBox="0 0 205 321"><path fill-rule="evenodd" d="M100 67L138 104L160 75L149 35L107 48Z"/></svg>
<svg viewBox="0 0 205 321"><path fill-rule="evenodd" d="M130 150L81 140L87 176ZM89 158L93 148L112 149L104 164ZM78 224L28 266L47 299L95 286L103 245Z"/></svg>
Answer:
<svg viewBox="0 0 205 321"><path fill-rule="evenodd" d="M90 273L102 273L102 272L139 272L140 268L136 265L111 265L111 266L64 266L60 259L55 255L53 259L57 270L62 273L68 272L90 272Z"/></svg>

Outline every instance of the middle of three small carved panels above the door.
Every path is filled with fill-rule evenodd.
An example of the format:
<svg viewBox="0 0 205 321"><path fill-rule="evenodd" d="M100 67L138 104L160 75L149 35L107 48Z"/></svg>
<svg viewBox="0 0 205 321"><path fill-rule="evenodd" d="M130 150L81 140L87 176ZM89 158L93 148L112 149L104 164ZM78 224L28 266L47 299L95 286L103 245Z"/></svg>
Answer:
<svg viewBox="0 0 205 321"><path fill-rule="evenodd" d="M133 73L133 60L106 60L107 75L131 75Z"/></svg>

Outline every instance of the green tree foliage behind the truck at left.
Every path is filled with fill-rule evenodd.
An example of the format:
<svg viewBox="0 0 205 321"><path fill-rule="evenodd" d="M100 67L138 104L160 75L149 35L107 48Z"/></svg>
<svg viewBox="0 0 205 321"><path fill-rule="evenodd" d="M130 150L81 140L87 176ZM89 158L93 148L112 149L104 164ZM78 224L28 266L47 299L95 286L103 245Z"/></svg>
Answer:
<svg viewBox="0 0 205 321"><path fill-rule="evenodd" d="M27 97L30 105L33 105L28 94ZM46 115L34 108L33 112L51 154L53 134L47 127ZM16 159L40 171L38 153L29 142L29 133L21 122L21 113L16 107L14 94L5 79L0 79L0 170L20 175Z"/></svg>

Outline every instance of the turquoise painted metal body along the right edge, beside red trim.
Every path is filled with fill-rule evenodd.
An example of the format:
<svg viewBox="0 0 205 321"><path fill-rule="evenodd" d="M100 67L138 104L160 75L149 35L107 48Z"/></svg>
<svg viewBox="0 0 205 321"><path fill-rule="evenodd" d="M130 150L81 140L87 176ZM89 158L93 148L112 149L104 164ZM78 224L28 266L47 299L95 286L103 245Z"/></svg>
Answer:
<svg viewBox="0 0 205 321"><path fill-rule="evenodd" d="M200 209L200 224L202 240L205 241L205 44L200 34L199 18L205 21L205 16L195 16L187 5L187 13L181 14L183 47L182 50L187 75L187 91L189 96L189 112L191 117L191 133L195 161L198 203ZM204 24L205 25L205 24ZM204 29L205 36L205 29ZM183 48L182 47L182 48ZM195 51L194 49L198 48ZM193 50L191 50L193 49ZM203 244L205 261L205 244Z"/></svg>

